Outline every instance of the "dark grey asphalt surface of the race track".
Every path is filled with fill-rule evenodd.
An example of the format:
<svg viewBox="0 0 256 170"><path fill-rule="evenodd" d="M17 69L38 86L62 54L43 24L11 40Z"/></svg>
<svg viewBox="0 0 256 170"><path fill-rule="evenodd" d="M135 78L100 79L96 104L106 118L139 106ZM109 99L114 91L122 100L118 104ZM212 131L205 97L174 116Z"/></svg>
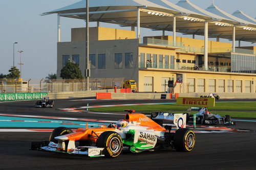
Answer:
<svg viewBox="0 0 256 170"><path fill-rule="evenodd" d="M56 100L53 109L34 108L34 102L11 102L0 103L0 114L118 120L123 115L84 114L55 109L86 106L87 103L96 106L172 102L175 101ZM0 129L3 128L6 129L0 124ZM31 141L48 140L50 132L0 132L0 169L255 169L256 122L239 121L232 128L251 132L196 133L196 145L191 152L128 152L114 159L30 151Z"/></svg>

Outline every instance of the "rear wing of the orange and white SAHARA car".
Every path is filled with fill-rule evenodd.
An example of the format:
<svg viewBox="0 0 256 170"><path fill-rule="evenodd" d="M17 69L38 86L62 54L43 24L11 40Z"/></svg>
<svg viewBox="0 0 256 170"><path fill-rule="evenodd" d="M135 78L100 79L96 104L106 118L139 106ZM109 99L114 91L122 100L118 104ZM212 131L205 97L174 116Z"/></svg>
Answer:
<svg viewBox="0 0 256 170"><path fill-rule="evenodd" d="M152 112L151 118L153 120L160 120L161 124L163 120L173 121L177 129L186 128L187 114L185 113ZM159 123L159 121L157 121L157 123Z"/></svg>

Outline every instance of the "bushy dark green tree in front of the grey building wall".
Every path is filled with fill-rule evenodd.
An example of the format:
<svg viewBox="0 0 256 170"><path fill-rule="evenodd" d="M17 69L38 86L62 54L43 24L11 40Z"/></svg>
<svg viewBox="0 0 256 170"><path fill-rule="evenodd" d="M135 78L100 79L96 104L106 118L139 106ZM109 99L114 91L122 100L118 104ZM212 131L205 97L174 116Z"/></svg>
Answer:
<svg viewBox="0 0 256 170"><path fill-rule="evenodd" d="M62 79L82 79L82 72L78 64L68 62L60 71Z"/></svg>

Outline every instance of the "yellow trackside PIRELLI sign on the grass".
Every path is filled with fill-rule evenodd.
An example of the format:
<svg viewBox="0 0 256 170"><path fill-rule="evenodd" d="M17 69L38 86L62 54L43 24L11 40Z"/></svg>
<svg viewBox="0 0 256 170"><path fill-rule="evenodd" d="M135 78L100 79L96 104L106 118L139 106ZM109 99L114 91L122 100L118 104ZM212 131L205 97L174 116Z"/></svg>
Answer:
<svg viewBox="0 0 256 170"><path fill-rule="evenodd" d="M215 98L178 97L176 100L176 104L187 106L215 106Z"/></svg>

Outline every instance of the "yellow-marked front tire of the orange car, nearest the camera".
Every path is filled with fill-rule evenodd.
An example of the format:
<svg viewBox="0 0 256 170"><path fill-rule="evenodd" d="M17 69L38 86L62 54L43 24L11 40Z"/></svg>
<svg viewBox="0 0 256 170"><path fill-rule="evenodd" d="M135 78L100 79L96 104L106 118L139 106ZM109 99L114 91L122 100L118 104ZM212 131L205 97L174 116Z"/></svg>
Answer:
<svg viewBox="0 0 256 170"><path fill-rule="evenodd" d="M96 145L99 148L104 148L105 157L115 158L122 151L122 139L121 136L114 131L106 131L100 134L96 141Z"/></svg>

